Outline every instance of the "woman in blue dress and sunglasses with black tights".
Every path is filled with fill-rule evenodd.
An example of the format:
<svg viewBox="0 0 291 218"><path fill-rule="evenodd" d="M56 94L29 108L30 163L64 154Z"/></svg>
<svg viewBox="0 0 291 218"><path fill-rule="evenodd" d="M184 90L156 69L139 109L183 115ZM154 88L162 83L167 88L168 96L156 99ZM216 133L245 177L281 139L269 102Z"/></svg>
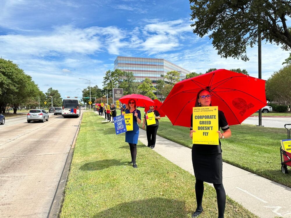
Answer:
<svg viewBox="0 0 291 218"><path fill-rule="evenodd" d="M131 154L131 162L134 168L137 168L136 165L136 144L139 139L139 126L141 123L141 112L136 109L136 101L134 99L130 99L128 101L127 109L125 111L126 114L132 113L133 116L133 130L125 132L125 142L129 144L130 154Z"/></svg>

